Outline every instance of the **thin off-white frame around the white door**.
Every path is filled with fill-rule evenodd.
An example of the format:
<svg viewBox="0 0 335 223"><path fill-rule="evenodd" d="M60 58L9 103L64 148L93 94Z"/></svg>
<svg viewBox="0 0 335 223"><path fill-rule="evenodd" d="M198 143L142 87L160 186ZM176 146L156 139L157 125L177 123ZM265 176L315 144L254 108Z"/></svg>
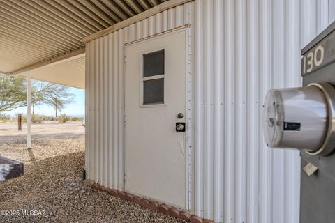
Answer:
<svg viewBox="0 0 335 223"><path fill-rule="evenodd" d="M185 156L185 189L186 189L186 197L185 197L185 206L186 206L186 210L188 212L191 212L191 200L192 200L192 187L191 185L193 185L192 183L192 178L191 178L191 174L192 174L192 146L191 146L191 133L192 133L192 128L191 128L191 116L192 116L192 106L191 106L191 100L192 100L192 93L191 93L191 86L192 86L192 78L191 78L191 36L190 36L190 29L191 29L191 24L185 24L183 26L179 26L177 28L174 29L169 29L167 31L163 31L161 33L156 33L154 35L151 36L147 36L145 38L140 38L138 40L134 40L131 42L127 42L124 43L124 191L126 192L126 188L127 188L127 161L126 161L126 157L127 157L127 135L126 135L126 114L127 114L127 108L126 108L126 47L128 45L133 45L133 44L137 44L137 43L142 43L145 40L151 40L151 39L156 39L159 38L163 35L169 35L169 34L174 34L177 32L185 32L185 41L186 41L186 49L185 49L185 56L186 56L186 66L185 66L185 95L186 95L186 117L185 117L185 121L186 121L186 131L185 131L185 151L186 151L186 156ZM166 59L166 58L165 58ZM141 60L142 61L142 60ZM142 65L141 65L142 67ZM166 88L165 88L166 89ZM142 196L145 197L145 196ZM149 198L151 199L151 198Z"/></svg>

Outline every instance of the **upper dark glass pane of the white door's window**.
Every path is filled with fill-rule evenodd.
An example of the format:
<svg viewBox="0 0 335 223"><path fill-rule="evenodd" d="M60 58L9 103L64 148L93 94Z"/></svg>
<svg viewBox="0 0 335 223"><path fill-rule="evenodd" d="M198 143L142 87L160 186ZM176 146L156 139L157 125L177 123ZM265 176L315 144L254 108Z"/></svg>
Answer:
<svg viewBox="0 0 335 223"><path fill-rule="evenodd" d="M143 55L143 77L164 75L164 49Z"/></svg>

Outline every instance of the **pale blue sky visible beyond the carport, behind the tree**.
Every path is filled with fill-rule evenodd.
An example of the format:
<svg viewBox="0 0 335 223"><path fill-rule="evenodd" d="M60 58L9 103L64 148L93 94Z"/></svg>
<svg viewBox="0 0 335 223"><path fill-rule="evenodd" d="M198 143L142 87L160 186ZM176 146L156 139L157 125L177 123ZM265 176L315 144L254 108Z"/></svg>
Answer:
<svg viewBox="0 0 335 223"><path fill-rule="evenodd" d="M85 114L85 90L84 89L75 89L69 88L70 93L75 95L74 102L70 105L66 105L66 107L61 110L61 112L57 112L59 114L67 114L68 116L75 117L84 117ZM16 116L18 113L25 114L27 112L26 107L20 107L10 112L3 112L5 114L10 114L10 116ZM33 112L31 108L31 113ZM47 105L35 106L34 114L40 114L45 116L55 116L54 108Z"/></svg>

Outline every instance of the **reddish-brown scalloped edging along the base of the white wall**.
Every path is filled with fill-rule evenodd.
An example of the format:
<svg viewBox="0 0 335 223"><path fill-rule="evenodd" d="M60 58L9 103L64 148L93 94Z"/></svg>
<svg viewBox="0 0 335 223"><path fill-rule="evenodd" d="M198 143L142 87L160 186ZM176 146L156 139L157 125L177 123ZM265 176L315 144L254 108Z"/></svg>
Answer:
<svg viewBox="0 0 335 223"><path fill-rule="evenodd" d="M214 223L213 220L207 220L202 219L201 217L197 215L191 215L190 213L186 211L178 210L177 208L167 206L164 203L158 203L156 201L149 201L148 199L144 199L142 197L135 196L133 194L128 194L119 190L109 189L106 187L103 187L98 184L92 185L93 189L101 190L102 192L106 192L107 194L110 194L115 197L119 197L121 199L124 199L126 201L131 201L133 203L137 203L142 208L147 208L154 212L160 212L164 215L170 215L172 217L177 217L181 220L184 220L186 222L190 223Z"/></svg>

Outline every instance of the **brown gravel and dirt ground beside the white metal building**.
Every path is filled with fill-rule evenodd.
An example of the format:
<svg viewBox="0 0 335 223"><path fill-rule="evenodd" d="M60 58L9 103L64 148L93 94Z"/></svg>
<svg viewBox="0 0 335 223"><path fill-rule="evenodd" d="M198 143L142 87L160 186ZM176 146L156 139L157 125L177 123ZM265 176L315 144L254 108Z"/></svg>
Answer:
<svg viewBox="0 0 335 223"><path fill-rule="evenodd" d="M79 128L82 126L78 125ZM18 210L20 214L6 216L1 212L1 223L183 222L85 187L82 184L84 134L78 132L61 137L59 134L56 137L41 134L41 137L33 138L31 151L25 148L23 137L15 136L15 140L10 140L7 135L7 142L0 141L0 155L20 160L25 165L24 176L0 182L0 210L12 215ZM23 216L22 210L40 213Z"/></svg>

